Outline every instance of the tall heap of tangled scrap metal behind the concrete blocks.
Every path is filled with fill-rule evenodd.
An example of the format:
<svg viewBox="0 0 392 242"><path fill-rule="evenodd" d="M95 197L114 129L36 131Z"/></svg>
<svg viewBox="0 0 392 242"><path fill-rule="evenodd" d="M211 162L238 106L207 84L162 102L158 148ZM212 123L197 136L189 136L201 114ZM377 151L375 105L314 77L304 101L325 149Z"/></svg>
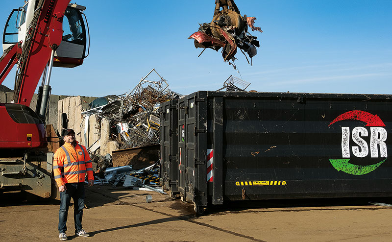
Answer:
<svg viewBox="0 0 392 242"><path fill-rule="evenodd" d="M159 76L158 80L147 79L152 72ZM107 104L98 107L93 104L83 114L98 114L109 120L112 139L119 143L120 149L156 145L159 144L160 104L179 97L168 87L167 81L152 69L129 93L108 97Z"/></svg>

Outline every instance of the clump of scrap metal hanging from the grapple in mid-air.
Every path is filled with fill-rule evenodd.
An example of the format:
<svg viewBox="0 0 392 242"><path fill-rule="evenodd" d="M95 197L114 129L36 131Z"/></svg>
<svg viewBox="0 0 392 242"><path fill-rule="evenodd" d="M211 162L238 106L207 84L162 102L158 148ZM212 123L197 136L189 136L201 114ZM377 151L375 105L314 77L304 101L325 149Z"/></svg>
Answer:
<svg viewBox="0 0 392 242"><path fill-rule="evenodd" d="M237 47L244 55L246 52L249 58L257 54L256 47L260 47L260 43L256 36L252 36L247 31L249 26L252 31L263 32L261 28L254 26L255 20L255 17L241 16L234 0L216 0L211 23L200 24L198 31L193 33L189 39L195 39L195 47L204 48L203 51L206 48L216 51L222 48L223 60L234 66L230 60L236 59L234 55L237 53ZM246 55L245 58L248 61Z"/></svg>

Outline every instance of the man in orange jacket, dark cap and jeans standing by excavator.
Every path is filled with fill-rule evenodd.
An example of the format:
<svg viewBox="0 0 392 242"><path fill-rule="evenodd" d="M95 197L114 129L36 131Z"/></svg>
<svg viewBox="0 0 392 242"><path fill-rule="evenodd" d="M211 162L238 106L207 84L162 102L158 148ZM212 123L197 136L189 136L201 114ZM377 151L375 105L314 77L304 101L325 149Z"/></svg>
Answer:
<svg viewBox="0 0 392 242"><path fill-rule="evenodd" d="M73 129L67 129L64 136L65 144L58 148L53 158L53 173L60 192L60 210L58 213L59 239L67 240L68 208L73 198L73 220L75 235L90 236L82 228L84 208L84 180L87 172L88 185L94 185L93 168L86 147L75 140Z"/></svg>

